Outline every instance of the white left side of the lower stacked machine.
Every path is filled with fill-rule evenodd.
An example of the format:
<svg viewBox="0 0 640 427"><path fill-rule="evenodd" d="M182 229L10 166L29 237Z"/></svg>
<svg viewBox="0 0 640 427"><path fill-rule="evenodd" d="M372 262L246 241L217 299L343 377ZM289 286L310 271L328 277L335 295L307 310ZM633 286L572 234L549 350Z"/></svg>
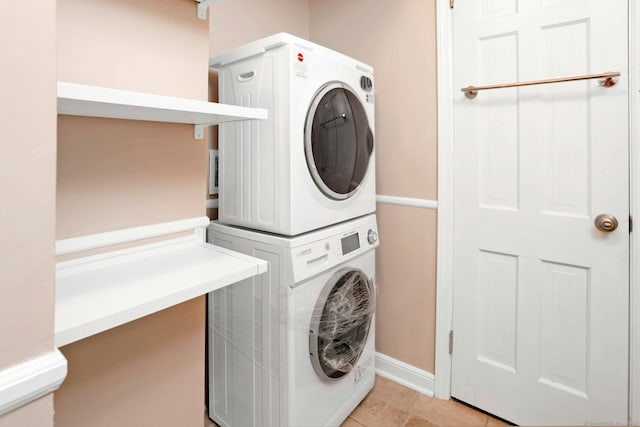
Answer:
<svg viewBox="0 0 640 427"><path fill-rule="evenodd" d="M266 273L209 294L209 416L221 426L286 426L282 247L210 229L217 246L269 262Z"/></svg>

